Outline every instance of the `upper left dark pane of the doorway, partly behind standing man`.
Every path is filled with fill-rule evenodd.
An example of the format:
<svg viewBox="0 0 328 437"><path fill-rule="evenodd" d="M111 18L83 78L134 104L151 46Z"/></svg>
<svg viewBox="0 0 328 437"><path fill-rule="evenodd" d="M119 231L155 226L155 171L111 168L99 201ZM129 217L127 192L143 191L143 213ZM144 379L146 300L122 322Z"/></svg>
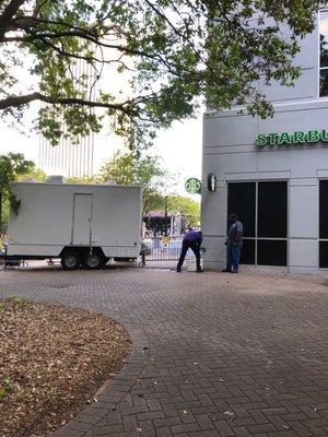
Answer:
<svg viewBox="0 0 328 437"><path fill-rule="evenodd" d="M244 236L255 237L255 182L227 186L227 215L235 213L244 225Z"/></svg>

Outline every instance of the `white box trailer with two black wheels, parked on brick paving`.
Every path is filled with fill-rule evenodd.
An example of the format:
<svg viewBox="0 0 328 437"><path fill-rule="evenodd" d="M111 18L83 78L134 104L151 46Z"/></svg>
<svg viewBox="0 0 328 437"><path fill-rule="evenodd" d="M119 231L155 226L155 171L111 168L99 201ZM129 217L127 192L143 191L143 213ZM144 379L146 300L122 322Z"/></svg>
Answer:
<svg viewBox="0 0 328 437"><path fill-rule="evenodd" d="M63 269L98 269L139 255L139 187L14 182L7 259L60 258Z"/></svg>

